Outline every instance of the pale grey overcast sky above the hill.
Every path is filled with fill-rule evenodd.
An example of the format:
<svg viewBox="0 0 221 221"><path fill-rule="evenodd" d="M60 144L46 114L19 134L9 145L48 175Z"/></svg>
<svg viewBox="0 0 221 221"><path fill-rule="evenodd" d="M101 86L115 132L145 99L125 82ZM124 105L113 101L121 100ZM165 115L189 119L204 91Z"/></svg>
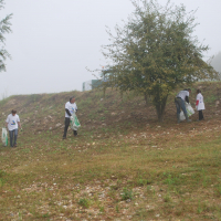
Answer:
<svg viewBox="0 0 221 221"><path fill-rule="evenodd" d="M159 0L166 3L167 0ZM221 51L221 0L171 0L196 10L196 35L209 44L207 56ZM7 35L7 72L0 72L0 97L82 90L94 78L85 67L105 65L101 46L108 43L105 25L127 19L129 0L6 0L0 19L13 13Z"/></svg>

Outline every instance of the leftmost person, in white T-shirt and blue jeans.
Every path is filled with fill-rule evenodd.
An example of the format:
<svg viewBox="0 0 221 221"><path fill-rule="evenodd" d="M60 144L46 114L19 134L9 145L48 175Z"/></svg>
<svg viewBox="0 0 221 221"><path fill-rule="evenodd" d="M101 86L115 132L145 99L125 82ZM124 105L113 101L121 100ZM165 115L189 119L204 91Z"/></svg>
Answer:
<svg viewBox="0 0 221 221"><path fill-rule="evenodd" d="M8 115L6 120L6 126L9 129L9 137L10 137L10 146L17 147L17 138L18 138L18 126L21 128L19 115L17 115L17 110L12 109L11 114Z"/></svg>

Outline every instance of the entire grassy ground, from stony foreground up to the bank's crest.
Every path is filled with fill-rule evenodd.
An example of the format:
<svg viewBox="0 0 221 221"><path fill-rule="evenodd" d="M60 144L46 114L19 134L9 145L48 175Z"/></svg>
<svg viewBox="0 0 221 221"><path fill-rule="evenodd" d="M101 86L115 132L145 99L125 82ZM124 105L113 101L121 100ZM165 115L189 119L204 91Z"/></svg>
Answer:
<svg viewBox="0 0 221 221"><path fill-rule="evenodd" d="M11 96L23 131L0 147L0 220L221 220L220 83L201 88L203 122L176 124L173 93L164 123L133 93ZM62 140L64 104L76 97L78 136ZM194 106L194 105L193 105Z"/></svg>

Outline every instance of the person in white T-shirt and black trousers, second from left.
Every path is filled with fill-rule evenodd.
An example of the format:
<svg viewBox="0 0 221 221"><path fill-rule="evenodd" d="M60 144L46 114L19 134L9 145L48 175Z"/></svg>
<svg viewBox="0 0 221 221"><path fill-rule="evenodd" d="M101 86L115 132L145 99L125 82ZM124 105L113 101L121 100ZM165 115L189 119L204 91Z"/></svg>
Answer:
<svg viewBox="0 0 221 221"><path fill-rule="evenodd" d="M65 120L64 120L64 135L63 135L63 139L66 139L66 133L70 126L70 122L71 122L71 116L74 112L77 112L77 106L75 104L75 98L71 97L70 102L67 102L65 104ZM77 135L77 131L74 130L74 136Z"/></svg>

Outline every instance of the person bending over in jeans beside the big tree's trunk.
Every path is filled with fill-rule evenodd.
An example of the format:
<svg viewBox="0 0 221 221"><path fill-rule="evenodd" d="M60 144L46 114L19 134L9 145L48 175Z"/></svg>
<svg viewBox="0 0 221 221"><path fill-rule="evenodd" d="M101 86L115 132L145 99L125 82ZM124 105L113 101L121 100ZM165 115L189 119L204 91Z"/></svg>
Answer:
<svg viewBox="0 0 221 221"><path fill-rule="evenodd" d="M188 115L187 115L187 109L185 106L185 102L187 102L189 104L189 96L190 96L191 90L183 90L180 91L177 96L175 97L175 104L177 107L177 123L180 123L180 108L182 109L187 122L191 122L191 119L189 119Z"/></svg>

